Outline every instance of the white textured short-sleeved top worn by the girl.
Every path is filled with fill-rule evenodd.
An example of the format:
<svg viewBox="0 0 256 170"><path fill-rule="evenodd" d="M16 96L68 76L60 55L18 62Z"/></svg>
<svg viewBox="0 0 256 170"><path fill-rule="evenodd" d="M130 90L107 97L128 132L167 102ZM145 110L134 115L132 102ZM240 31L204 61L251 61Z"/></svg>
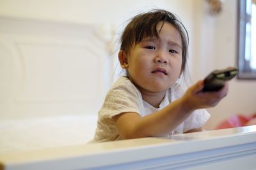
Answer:
<svg viewBox="0 0 256 170"><path fill-rule="evenodd" d="M122 112L137 112L142 117L147 116L152 112L163 109L183 94L184 89L180 86L174 86L166 91L159 108L155 108L142 99L140 91L129 79L120 77L106 95L105 102L99 111L94 139L91 142L115 141L118 139L118 131L111 119L113 116ZM209 117L210 114L205 109L196 110L170 134L182 134L193 128L202 127Z"/></svg>

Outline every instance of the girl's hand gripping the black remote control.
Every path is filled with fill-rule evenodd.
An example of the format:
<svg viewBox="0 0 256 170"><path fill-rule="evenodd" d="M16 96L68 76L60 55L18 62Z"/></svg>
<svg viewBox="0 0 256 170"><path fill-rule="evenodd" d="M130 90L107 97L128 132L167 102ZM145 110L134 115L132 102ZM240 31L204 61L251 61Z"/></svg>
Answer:
<svg viewBox="0 0 256 170"><path fill-rule="evenodd" d="M228 93L228 84L219 91L204 92L204 81L198 81L193 86L189 87L184 96L182 102L184 107L188 110L203 109L208 107L214 107L217 105L222 98Z"/></svg>

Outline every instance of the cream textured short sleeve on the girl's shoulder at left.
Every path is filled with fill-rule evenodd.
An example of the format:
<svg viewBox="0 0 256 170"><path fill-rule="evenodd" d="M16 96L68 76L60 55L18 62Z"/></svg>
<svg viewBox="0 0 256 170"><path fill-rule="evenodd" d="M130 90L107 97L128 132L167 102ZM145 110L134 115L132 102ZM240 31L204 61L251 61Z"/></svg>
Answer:
<svg viewBox="0 0 256 170"><path fill-rule="evenodd" d="M140 95L138 89L133 86L118 86L111 89L99 111L99 118L100 120L111 119L122 112L140 114Z"/></svg>

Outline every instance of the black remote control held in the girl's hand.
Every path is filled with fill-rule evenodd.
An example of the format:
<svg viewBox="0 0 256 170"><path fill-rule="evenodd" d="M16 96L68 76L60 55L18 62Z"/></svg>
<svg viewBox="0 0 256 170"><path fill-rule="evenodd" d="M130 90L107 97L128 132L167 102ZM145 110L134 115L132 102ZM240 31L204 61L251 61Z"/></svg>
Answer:
<svg viewBox="0 0 256 170"><path fill-rule="evenodd" d="M204 79L203 91L218 91L223 88L225 81L230 81L237 74L236 67L229 67L223 70L214 70Z"/></svg>

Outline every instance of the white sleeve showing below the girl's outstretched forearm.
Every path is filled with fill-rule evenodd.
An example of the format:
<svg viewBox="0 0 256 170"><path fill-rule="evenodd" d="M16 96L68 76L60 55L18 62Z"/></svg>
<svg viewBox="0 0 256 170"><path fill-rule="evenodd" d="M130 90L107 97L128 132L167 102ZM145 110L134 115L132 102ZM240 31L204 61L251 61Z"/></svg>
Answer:
<svg viewBox="0 0 256 170"><path fill-rule="evenodd" d="M191 116L189 116L184 121L183 132L187 132L193 128L200 128L202 125L206 123L206 121L210 118L211 114L207 112L205 109L198 109L194 111Z"/></svg>

